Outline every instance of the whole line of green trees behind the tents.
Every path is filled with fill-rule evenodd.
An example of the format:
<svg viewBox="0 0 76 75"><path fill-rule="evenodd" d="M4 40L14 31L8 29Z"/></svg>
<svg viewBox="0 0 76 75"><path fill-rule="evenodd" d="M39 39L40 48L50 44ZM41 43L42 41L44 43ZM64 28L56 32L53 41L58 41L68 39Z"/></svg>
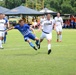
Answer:
<svg viewBox="0 0 76 75"><path fill-rule="evenodd" d="M36 9L36 5L33 5L36 0L28 0L30 8ZM0 6L12 9L20 5L26 5L26 0L1 0ZM38 10L41 10L39 6ZM76 15L76 0L44 0L44 7L60 12L62 14L74 14Z"/></svg>

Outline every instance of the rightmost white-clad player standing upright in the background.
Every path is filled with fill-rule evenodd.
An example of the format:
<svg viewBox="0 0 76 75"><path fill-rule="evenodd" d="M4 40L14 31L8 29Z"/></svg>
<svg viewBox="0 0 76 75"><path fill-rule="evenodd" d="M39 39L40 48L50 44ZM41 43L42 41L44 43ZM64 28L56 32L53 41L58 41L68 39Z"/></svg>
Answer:
<svg viewBox="0 0 76 75"><path fill-rule="evenodd" d="M57 17L54 19L55 22L55 30L57 32L57 42L62 41L62 25L63 25L63 19L60 17L60 13L57 13Z"/></svg>

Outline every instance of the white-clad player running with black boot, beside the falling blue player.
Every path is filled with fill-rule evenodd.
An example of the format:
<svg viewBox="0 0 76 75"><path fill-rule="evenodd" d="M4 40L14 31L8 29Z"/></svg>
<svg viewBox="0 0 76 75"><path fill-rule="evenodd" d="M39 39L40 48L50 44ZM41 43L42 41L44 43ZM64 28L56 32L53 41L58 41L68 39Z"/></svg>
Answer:
<svg viewBox="0 0 76 75"><path fill-rule="evenodd" d="M48 54L51 53L51 40L52 40L52 29L53 29L53 20L51 20L51 15L47 14L46 20L41 24L42 29L42 34L40 37L40 42L43 41L44 38L47 39L48 42ZM40 27L40 28L41 28Z"/></svg>

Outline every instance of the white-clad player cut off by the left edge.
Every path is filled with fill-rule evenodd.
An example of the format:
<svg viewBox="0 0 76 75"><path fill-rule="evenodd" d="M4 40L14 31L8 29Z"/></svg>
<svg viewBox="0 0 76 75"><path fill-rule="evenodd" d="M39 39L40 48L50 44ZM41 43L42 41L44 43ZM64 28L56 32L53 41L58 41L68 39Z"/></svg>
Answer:
<svg viewBox="0 0 76 75"><path fill-rule="evenodd" d="M5 20L3 19L3 14L0 13L0 49L3 49L2 47L2 40L5 35Z"/></svg>

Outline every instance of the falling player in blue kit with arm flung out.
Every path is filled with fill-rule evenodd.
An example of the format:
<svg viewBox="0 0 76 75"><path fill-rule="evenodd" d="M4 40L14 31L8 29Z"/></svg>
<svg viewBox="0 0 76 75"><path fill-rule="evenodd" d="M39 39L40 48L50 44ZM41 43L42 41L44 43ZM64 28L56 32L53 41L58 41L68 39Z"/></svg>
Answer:
<svg viewBox="0 0 76 75"><path fill-rule="evenodd" d="M31 30L34 32L34 30L28 25L28 24L25 24L24 20L19 20L19 24L16 25L16 26L13 26L13 27L10 27L9 29L7 29L6 31L8 30L12 30L12 29L18 29L21 34L24 36L24 40L26 42L29 43L29 45L34 48L35 50L40 49L40 42L39 42L39 39L34 35L32 34ZM36 45L37 45L37 48L35 47L35 45L31 42L31 40L36 40Z"/></svg>

